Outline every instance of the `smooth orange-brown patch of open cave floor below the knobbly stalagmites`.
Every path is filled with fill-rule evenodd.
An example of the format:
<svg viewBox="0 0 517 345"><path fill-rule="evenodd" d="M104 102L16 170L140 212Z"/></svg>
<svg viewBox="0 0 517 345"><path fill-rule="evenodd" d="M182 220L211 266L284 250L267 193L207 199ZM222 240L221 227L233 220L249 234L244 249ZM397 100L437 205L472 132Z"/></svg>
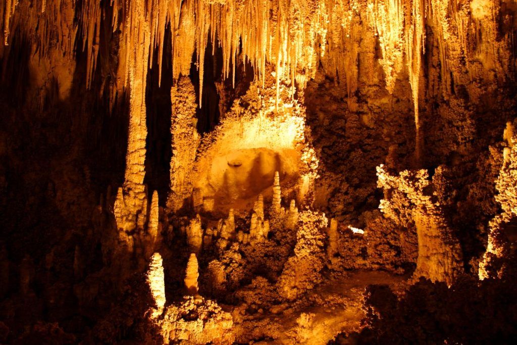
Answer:
<svg viewBox="0 0 517 345"><path fill-rule="evenodd" d="M291 304L247 317L240 325L245 339L238 340L254 340L256 344L327 344L339 333L360 330L364 318L363 292L367 286L387 284L394 291L401 291L408 278L383 271L340 274ZM268 337L262 336L266 334Z"/></svg>

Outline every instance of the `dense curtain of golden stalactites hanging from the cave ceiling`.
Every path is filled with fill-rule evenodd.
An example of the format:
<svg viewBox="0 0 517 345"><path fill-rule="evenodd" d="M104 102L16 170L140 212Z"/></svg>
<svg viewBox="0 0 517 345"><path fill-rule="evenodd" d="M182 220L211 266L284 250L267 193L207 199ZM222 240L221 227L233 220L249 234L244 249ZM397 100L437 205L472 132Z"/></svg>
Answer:
<svg viewBox="0 0 517 345"><path fill-rule="evenodd" d="M80 41L86 52L86 87L89 88L99 54L100 23L108 6L101 7L100 2L94 1L77 4L72 0L39 0L34 7L29 6L28 1L21 0L19 3L18 0L6 0L2 3L0 24L4 45L9 42L10 33L22 26L22 20L37 27L26 32L29 42L35 47L35 61L49 56L53 46L58 46L58 50L71 59L80 28ZM74 10L76 5L81 8ZM262 84L266 62L274 64L277 67L277 98L280 83L290 85L291 94L294 94L295 81L299 88L305 87L307 80L314 77L319 63L330 61L330 66L327 65L330 70L336 70L339 78L346 81L352 111L355 109L352 96L357 89L361 15L366 13L369 25L378 36L382 53L379 63L390 93L402 71L405 55L415 108L416 156L422 149L418 107L426 24L432 25L433 34L438 36L444 90L450 88L450 75L455 83L465 83L465 78L477 77L478 72L472 74L469 71L469 77L465 73L465 67L474 58L482 61L483 71L510 68L509 63L501 63L509 59L501 59L500 56L506 54L503 57L510 57L507 46L511 35L503 39L497 37L496 19L500 4L495 0L307 0L303 4L286 0L249 0L244 3L234 0L111 0L109 5L112 7L113 31L120 29L121 32L117 72L120 80L112 86L111 102L117 93L129 86L131 78L136 84L139 79L145 80L143 76L154 61L155 48L161 83L163 40L165 30L170 25L173 79L177 81L180 75L189 74L195 50L196 65L200 71L200 102L203 97L204 54L210 40L214 51L217 46L221 47L223 78L230 78L232 74L235 80L239 55L243 62L251 63L257 80L261 80ZM68 11L66 15L63 15L64 9ZM77 20L74 20L74 12L77 13ZM474 51L468 43L472 40L475 43L472 45ZM4 47L0 55L3 50ZM58 57L58 54L52 55L54 59ZM135 66L135 62L139 67ZM505 75L500 72L497 78L504 80ZM142 87L136 84L129 88L133 113L145 109L136 101L143 95L141 91L145 92L145 83ZM66 92L68 86L63 88L63 92ZM278 101L276 105L278 107ZM138 123L143 125L141 121Z"/></svg>

